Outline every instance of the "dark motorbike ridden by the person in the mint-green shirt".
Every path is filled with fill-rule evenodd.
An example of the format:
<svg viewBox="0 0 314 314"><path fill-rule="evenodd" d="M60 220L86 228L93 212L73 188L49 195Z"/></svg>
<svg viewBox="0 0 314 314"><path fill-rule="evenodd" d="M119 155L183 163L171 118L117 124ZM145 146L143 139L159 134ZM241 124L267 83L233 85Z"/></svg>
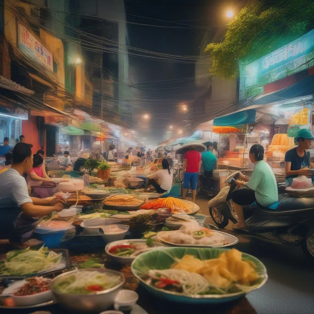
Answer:
<svg viewBox="0 0 314 314"><path fill-rule="evenodd" d="M226 182L230 189L224 201L219 194L208 203L209 214L219 228L225 228L229 220L238 222L231 193L238 189L235 180L241 172L231 174ZM292 197L279 193L279 205L276 209L260 204L243 206L247 230L237 230L243 235L279 245L302 247L305 255L314 262L314 197Z"/></svg>

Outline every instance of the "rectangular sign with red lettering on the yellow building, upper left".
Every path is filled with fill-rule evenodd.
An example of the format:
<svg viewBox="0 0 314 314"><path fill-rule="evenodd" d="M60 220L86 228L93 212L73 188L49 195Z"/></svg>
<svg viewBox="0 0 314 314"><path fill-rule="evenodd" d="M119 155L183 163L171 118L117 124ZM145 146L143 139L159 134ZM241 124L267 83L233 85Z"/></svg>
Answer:
<svg viewBox="0 0 314 314"><path fill-rule="evenodd" d="M21 23L19 27L19 48L32 59L44 64L49 70L53 71L52 53Z"/></svg>

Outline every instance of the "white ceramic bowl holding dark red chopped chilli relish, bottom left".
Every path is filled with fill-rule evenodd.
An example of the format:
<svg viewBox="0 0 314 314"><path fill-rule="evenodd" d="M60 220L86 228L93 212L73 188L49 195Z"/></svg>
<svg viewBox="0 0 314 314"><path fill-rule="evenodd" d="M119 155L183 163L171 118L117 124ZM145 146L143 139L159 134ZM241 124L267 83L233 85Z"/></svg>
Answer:
<svg viewBox="0 0 314 314"><path fill-rule="evenodd" d="M51 283L51 279L46 279L49 283ZM16 306L30 306L35 304L44 303L52 298L52 292L51 290L36 293L34 295L25 295L25 296L18 296L13 295L14 292L18 291L21 287L26 284L27 281L21 280L17 281L11 285L8 286L8 288L4 289L2 294L11 294L12 299L14 300L14 303Z"/></svg>

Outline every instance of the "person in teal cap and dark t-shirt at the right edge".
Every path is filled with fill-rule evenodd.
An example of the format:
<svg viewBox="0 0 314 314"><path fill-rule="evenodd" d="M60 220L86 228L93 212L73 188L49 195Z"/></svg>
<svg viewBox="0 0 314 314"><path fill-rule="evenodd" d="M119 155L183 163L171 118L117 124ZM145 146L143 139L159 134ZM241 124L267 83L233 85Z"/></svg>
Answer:
<svg viewBox="0 0 314 314"><path fill-rule="evenodd" d="M310 162L310 153L306 149L310 148L311 140L314 137L307 129L301 129L297 135L298 146L290 149L284 156L284 170L286 174L285 185L289 187L293 178L297 176L311 176L309 168L314 168Z"/></svg>

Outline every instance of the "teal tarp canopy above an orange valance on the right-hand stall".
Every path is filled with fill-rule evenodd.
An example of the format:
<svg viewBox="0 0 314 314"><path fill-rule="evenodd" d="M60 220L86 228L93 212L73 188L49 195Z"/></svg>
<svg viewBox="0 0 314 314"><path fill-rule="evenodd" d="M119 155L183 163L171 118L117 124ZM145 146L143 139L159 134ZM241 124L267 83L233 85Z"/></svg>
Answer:
<svg viewBox="0 0 314 314"><path fill-rule="evenodd" d="M213 126L215 127L229 127L233 125L254 123L256 117L255 109L248 109L232 113L228 116L223 116L214 119Z"/></svg>

